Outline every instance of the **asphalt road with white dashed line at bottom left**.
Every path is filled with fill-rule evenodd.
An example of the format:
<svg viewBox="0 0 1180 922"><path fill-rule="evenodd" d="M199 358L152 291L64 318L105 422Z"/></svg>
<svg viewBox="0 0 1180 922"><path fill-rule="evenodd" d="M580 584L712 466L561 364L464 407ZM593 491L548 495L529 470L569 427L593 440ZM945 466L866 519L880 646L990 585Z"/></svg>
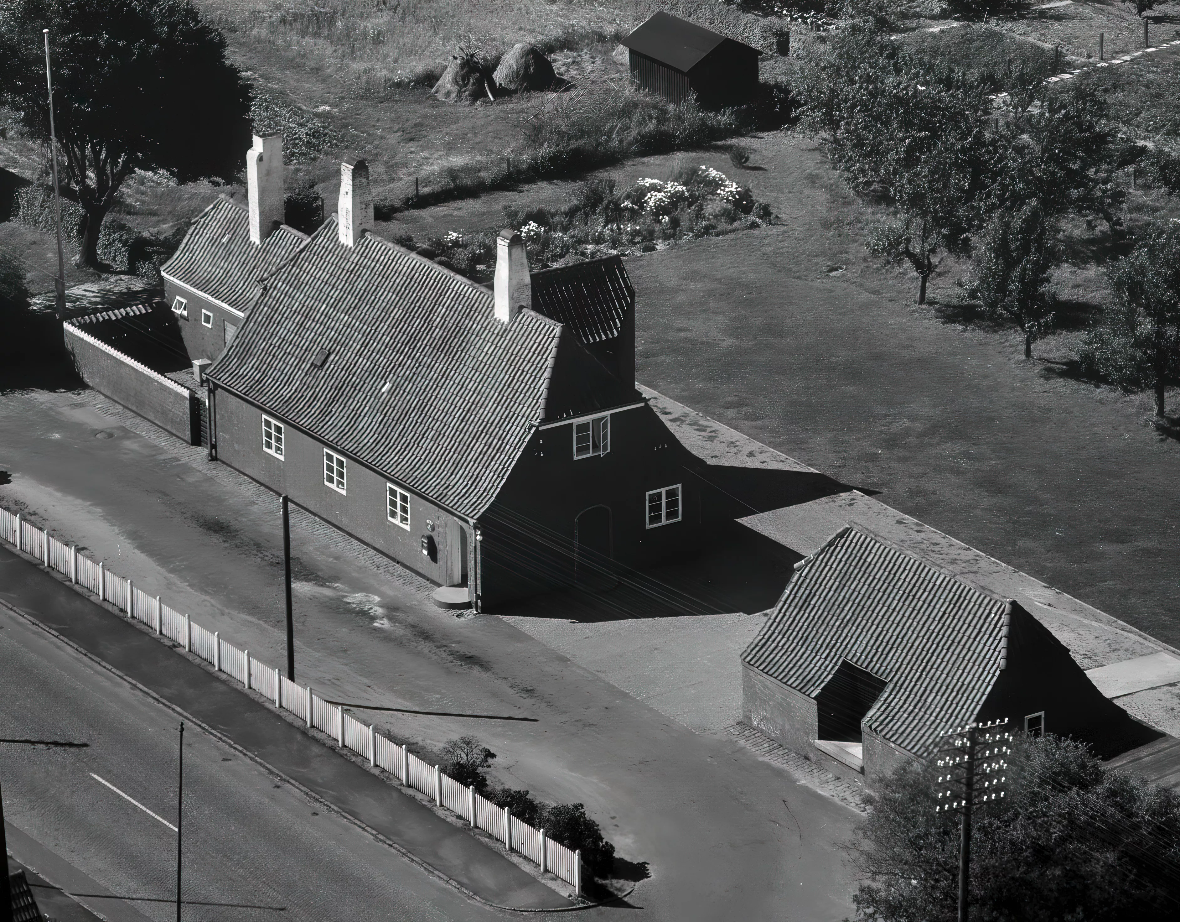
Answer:
<svg viewBox="0 0 1180 922"><path fill-rule="evenodd" d="M177 717L6 609L0 700L0 739L85 744L0 743L8 820L143 916L175 918ZM505 917L197 727L184 740L189 922ZM83 902L118 917L111 901Z"/></svg>

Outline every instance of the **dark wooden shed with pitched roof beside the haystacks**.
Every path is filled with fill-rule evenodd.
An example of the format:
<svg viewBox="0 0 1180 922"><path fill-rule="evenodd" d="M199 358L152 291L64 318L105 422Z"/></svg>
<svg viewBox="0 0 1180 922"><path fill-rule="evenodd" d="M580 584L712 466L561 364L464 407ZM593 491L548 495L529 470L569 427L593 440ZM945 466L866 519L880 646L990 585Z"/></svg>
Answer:
<svg viewBox="0 0 1180 922"><path fill-rule="evenodd" d="M631 83L670 103L683 103L695 93L710 109L742 105L758 91L761 52L687 19L655 13L623 45Z"/></svg>

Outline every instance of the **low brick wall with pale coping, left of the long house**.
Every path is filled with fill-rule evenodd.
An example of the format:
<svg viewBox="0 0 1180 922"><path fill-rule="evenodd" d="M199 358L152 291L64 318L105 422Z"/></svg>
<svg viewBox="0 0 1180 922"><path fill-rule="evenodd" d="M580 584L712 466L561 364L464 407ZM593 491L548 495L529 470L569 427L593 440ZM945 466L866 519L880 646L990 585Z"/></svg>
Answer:
<svg viewBox="0 0 1180 922"><path fill-rule="evenodd" d="M86 384L190 445L201 444L201 417L191 391L71 323L65 325L65 339Z"/></svg>

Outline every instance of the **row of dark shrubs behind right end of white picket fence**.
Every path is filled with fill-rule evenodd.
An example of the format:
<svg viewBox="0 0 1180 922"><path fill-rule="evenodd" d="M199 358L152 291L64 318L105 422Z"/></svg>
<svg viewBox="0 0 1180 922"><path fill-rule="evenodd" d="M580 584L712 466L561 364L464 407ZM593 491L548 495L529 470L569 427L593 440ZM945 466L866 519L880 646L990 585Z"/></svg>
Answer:
<svg viewBox="0 0 1180 922"><path fill-rule="evenodd" d="M603 838L602 829L586 816L582 804L546 804L527 791L498 785L487 778L496 753L476 737L447 740L442 745L444 769L460 784L474 787L497 806L507 807L512 816L568 849L582 852L582 863L595 877L607 877L615 867L615 846Z"/></svg>

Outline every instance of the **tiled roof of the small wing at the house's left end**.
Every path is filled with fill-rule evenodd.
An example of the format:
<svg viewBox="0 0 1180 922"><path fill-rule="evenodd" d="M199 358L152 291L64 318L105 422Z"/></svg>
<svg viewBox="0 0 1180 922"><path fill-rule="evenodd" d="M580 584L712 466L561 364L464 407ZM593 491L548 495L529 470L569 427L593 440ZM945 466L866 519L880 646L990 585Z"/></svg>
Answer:
<svg viewBox="0 0 1180 922"><path fill-rule="evenodd" d="M257 294L258 279L274 272L306 241L306 235L283 224L255 246L249 212L219 196L192 222L160 272L244 313Z"/></svg>

